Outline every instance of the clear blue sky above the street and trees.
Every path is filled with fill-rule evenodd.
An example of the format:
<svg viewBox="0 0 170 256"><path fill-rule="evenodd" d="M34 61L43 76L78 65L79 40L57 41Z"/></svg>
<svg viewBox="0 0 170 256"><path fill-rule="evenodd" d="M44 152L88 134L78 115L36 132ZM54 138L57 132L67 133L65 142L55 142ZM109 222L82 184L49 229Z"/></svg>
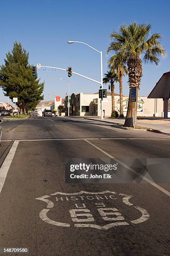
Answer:
<svg viewBox="0 0 170 256"><path fill-rule="evenodd" d="M107 72L106 56L109 34L122 23L137 21L152 24L151 33L160 32L167 51L159 67L143 64L140 96L147 96L164 72L170 71L170 1L169 0L1 0L0 14L0 64L5 54L13 48L13 42L20 41L29 52L30 64L67 68L74 72L100 80L100 54L82 44L67 44L67 41L83 41L103 51L103 69ZM38 71L38 77L45 81L44 100L53 100L54 95L65 97L68 79L63 71ZM73 75L70 92L94 93L99 85ZM116 85L115 92L119 92ZM128 95L127 77L123 79L123 94ZM0 102L8 97L0 89Z"/></svg>

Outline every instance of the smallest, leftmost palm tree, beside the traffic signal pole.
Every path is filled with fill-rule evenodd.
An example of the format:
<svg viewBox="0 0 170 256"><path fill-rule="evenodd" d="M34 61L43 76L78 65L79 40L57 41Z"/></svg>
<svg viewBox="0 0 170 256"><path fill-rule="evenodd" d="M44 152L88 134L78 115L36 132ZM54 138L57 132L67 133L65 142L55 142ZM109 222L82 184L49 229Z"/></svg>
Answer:
<svg viewBox="0 0 170 256"><path fill-rule="evenodd" d="M109 84L109 89L111 87L111 95L112 95L112 113L115 112L115 102L114 102L114 82L119 81L119 77L115 72L112 72L111 70L107 71L107 74L104 74L103 83Z"/></svg>

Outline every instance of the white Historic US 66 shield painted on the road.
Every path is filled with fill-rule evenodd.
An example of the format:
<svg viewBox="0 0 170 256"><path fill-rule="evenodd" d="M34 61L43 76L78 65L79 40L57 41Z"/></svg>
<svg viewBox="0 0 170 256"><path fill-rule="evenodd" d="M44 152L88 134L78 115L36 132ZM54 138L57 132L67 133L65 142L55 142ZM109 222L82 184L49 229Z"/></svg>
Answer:
<svg viewBox="0 0 170 256"><path fill-rule="evenodd" d="M57 197L55 197L56 195ZM55 201L58 211L61 211L64 207L64 214L58 217L55 213L54 218L57 217L57 219L59 218L59 220L61 221L63 221L63 219L65 218L67 222L72 221L72 223L63 223L48 218L48 212L51 208L54 207L54 203L51 200L49 200L49 197L51 197L51 200ZM71 225L74 225L75 228L97 228L100 230L108 230L109 228L116 226L131 225L131 223L139 224L147 221L150 218L150 215L147 212L147 210L139 206L134 206L131 202L129 202L129 199L132 197L132 195L126 195L123 193L118 194L117 192L106 190L102 192L55 192L52 193L50 196L45 195L35 199L47 203L46 208L41 210L39 216L41 220L48 224L61 227L70 227ZM137 212L139 218L135 220L130 220L131 218L133 219L133 217L126 217L125 220L124 216L121 213L123 209L121 210L121 212L119 212L117 207L115 207L115 200L119 200L119 202L122 202L123 208L126 205L128 209L130 207L130 212L132 215L133 211ZM65 202L64 205L66 205L66 202L68 201L69 209L66 210L65 206L63 206L63 202ZM93 213L91 212L91 207L93 209ZM69 215L70 217L67 217ZM111 221L112 223L110 223Z"/></svg>

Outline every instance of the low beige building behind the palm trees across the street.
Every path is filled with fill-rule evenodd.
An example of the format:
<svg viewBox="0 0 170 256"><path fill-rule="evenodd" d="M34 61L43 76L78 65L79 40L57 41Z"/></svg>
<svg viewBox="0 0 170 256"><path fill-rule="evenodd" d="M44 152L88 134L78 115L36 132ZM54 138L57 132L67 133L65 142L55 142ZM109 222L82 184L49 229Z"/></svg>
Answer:
<svg viewBox="0 0 170 256"><path fill-rule="evenodd" d="M115 110L119 112L119 95L115 94ZM67 108L68 96L65 100L66 115L68 115ZM124 116L127 113L128 97L123 97L123 109ZM70 97L70 115L77 116L100 116L100 99L99 93L79 94L72 93ZM105 110L105 117L110 117L112 113L112 97L111 93L107 92L107 98L103 99L103 110ZM147 97L138 97L137 101L137 116L150 117L156 116L162 117L163 100L162 99L148 99Z"/></svg>

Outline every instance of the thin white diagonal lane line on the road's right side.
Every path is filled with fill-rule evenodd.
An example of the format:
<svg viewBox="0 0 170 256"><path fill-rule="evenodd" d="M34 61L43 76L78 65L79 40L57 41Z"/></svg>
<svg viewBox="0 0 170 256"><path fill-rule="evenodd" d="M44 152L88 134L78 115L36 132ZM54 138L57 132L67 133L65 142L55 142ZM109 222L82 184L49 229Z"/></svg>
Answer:
<svg viewBox="0 0 170 256"><path fill-rule="evenodd" d="M143 175L137 173L136 171L134 171L134 169L132 169L131 167L127 166L126 164L124 164L123 162L119 161L118 159L116 159L114 156L111 156L110 154L108 154L106 151L104 151L103 149L99 148L98 146L94 145L93 143L91 143L90 141L87 141L86 139L84 140L87 143L89 143L91 146L93 146L94 148L98 149L99 151L101 151L103 154L109 156L109 158L116 160L119 164L121 164L122 166L124 166L125 168L127 168L129 171L133 172L134 174L138 175L139 177L141 177L142 179L144 179L145 181L147 181L148 183L150 183L152 186L156 187L157 189L159 189L160 191L162 191L163 193L165 193L166 195L168 195L170 197L170 192L168 192L166 189L160 187L159 185L157 185L155 182L152 182L150 179L144 177Z"/></svg>

